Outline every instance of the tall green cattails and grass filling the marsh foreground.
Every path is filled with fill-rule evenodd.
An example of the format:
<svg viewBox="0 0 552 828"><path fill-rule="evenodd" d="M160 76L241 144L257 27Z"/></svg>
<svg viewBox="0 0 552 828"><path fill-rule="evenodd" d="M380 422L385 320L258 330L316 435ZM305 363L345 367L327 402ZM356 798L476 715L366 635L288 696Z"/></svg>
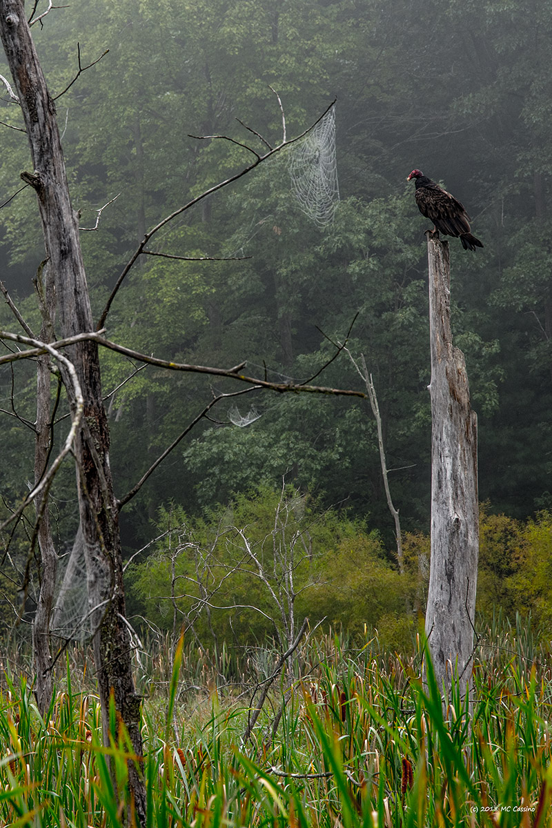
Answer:
<svg viewBox="0 0 552 828"><path fill-rule="evenodd" d="M321 636L281 676L247 744L249 668L221 653L213 673L192 647L173 649L149 647L158 683L143 710L148 826L550 824L552 676L522 625L489 631L471 705L454 691L443 704L430 667L422 686L420 653ZM2 826L132 823L127 735L103 746L98 698L67 664L44 719L26 680L4 676Z"/></svg>

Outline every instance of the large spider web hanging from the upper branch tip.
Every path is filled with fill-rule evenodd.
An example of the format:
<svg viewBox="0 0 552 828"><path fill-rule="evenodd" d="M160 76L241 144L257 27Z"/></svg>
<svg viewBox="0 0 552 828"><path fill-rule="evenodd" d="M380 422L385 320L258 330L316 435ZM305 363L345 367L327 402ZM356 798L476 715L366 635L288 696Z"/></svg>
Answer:
<svg viewBox="0 0 552 828"><path fill-rule="evenodd" d="M290 147L288 168L300 208L319 227L330 224L339 202L335 105Z"/></svg>

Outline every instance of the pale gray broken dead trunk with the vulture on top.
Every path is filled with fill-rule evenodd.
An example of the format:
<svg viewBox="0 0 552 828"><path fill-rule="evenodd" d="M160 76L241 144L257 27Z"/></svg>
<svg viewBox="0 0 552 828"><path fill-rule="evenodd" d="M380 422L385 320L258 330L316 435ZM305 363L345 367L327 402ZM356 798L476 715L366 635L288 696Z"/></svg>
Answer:
<svg viewBox="0 0 552 828"><path fill-rule="evenodd" d="M428 233L431 349L431 563L425 615L434 672L469 693L478 577L477 417L450 329L449 244Z"/></svg>

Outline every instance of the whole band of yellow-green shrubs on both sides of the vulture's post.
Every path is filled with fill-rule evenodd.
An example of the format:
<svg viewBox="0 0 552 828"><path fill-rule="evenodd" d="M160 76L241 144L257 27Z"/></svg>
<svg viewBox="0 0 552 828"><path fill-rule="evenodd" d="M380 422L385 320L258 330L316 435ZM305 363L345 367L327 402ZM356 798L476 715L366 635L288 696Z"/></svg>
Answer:
<svg viewBox="0 0 552 828"><path fill-rule="evenodd" d="M476 631L499 606L552 638L550 513L521 522L483 508L480 531ZM365 522L291 487L240 495L201 518L172 505L156 537L127 572L129 608L138 625L145 618L173 639L184 625L204 650L274 639L283 652L306 617L357 638L376 628L383 646L407 652L425 611L428 536L406 532L401 576L396 553Z"/></svg>

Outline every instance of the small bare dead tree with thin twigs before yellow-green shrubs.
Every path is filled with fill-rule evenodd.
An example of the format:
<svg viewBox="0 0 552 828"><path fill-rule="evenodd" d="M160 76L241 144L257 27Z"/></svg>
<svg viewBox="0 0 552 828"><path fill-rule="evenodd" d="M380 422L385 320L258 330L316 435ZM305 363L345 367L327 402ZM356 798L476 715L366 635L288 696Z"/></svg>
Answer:
<svg viewBox="0 0 552 828"><path fill-rule="evenodd" d="M266 678L259 678L261 671L257 666L254 687L250 689L251 715L243 735L244 742L252 735L272 684L286 662L294 656L308 628L308 619L303 619L298 630L295 615L295 600L315 583L311 574L305 576L303 573L298 577L300 567L305 568L306 563L310 569L314 557L310 523L302 514L304 506L305 498L290 497L284 481L271 532L261 540L253 541L247 527L219 526L212 541L202 546L194 540L190 529L180 524L166 532L167 547L158 556L170 565L170 594L156 595L155 599L166 601L172 606L174 640L180 621L182 628L191 634L194 643L209 661L211 669L222 681L224 676L218 669L218 641L212 616L214 612L250 609L266 619L274 630L279 652L276 652L276 660ZM297 511L299 516L294 514ZM224 550L222 556L221 546ZM182 566L177 570L179 559ZM246 574L248 578L257 580L273 611L265 612L257 604L237 603L235 599L231 603L222 604L218 595L235 574ZM208 656L207 647L199 637L197 626L202 616L206 619L214 641L214 659ZM314 629L318 626L319 624ZM310 634L313 632L314 630ZM290 691L286 693L283 705L289 696ZM282 710L283 707L276 715L274 729L277 729Z"/></svg>

